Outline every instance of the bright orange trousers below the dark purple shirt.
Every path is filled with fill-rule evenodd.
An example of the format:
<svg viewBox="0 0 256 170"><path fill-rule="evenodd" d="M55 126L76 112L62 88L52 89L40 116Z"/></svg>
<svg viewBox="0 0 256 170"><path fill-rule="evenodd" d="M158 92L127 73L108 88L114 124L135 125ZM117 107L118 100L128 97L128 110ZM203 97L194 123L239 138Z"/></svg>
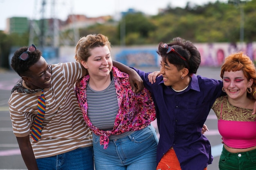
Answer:
<svg viewBox="0 0 256 170"><path fill-rule="evenodd" d="M157 165L157 170L182 170L180 162L173 149L168 150ZM207 170L207 167L204 168Z"/></svg>

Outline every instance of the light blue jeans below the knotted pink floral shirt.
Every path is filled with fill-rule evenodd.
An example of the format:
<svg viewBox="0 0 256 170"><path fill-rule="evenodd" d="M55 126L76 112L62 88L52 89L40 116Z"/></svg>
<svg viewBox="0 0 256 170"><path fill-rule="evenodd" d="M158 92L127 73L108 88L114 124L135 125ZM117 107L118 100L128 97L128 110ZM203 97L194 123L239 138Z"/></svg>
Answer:
<svg viewBox="0 0 256 170"><path fill-rule="evenodd" d="M158 138L152 125L126 137L110 140L107 149L93 134L96 170L155 170Z"/></svg>

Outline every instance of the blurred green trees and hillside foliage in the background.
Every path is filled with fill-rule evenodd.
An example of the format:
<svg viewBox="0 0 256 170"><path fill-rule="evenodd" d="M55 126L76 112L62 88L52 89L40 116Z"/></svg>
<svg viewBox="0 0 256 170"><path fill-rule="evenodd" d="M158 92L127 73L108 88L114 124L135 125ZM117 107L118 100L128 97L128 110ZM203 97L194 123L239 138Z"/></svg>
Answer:
<svg viewBox="0 0 256 170"><path fill-rule="evenodd" d="M254 42L255 17L256 0L216 1L203 6L188 2L184 8L168 5L165 11L153 16L129 13L118 22L110 19L104 24L79 29L79 36L102 33L115 46L168 43L177 36L192 42ZM60 34L65 37L67 32ZM7 35L0 31L0 57L8 56L12 46L27 46L28 39L29 33Z"/></svg>

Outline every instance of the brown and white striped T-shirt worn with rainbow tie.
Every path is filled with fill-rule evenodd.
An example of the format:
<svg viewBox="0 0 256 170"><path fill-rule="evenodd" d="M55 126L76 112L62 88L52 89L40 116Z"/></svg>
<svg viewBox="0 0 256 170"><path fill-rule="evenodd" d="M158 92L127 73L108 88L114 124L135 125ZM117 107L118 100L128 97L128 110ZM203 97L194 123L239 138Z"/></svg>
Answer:
<svg viewBox="0 0 256 170"><path fill-rule="evenodd" d="M83 69L78 62L52 64L52 86L44 89L46 111L41 139L31 141L36 158L92 146L92 134L83 119L73 86L82 75ZM16 137L31 133L31 125L37 115L38 96L40 92L28 94L14 91L11 94L8 103Z"/></svg>

